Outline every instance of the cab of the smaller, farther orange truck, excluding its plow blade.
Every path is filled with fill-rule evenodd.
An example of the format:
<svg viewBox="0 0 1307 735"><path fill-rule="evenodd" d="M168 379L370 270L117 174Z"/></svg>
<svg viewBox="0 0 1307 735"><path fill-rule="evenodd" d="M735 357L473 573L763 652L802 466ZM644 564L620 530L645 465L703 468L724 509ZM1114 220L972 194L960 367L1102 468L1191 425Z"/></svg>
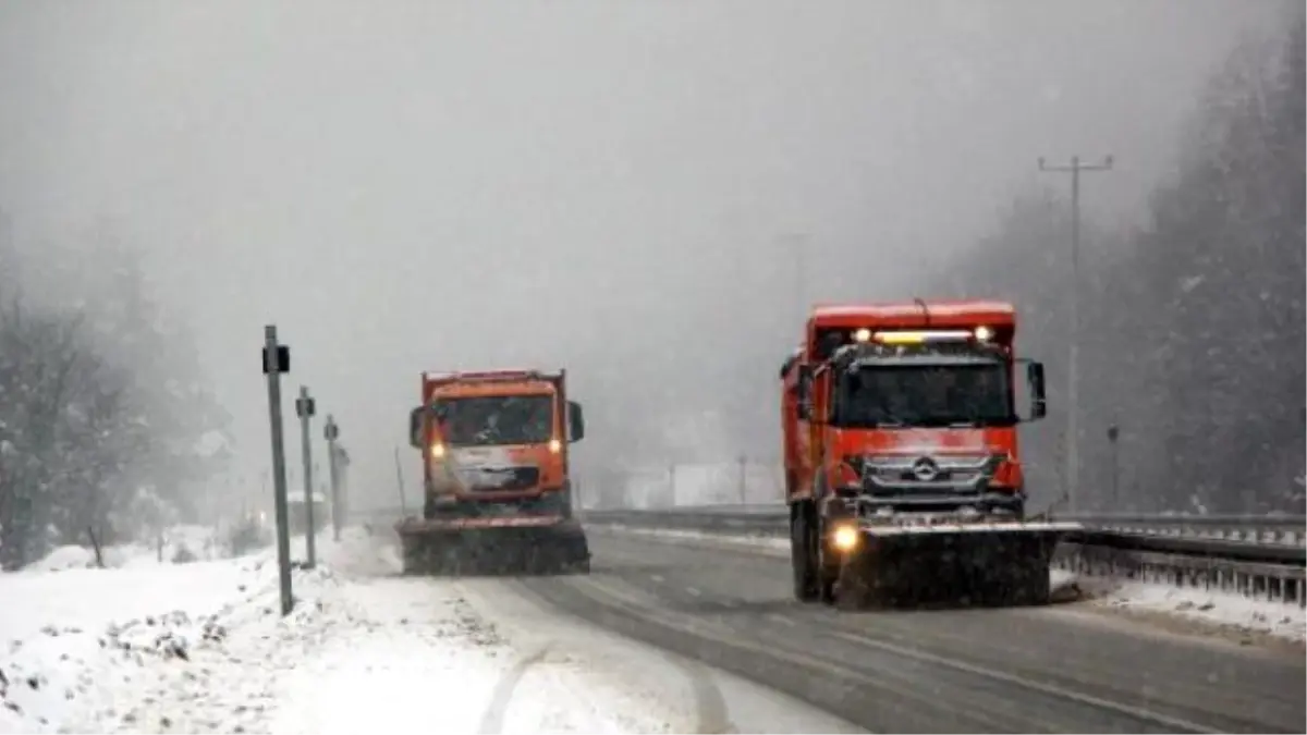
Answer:
<svg viewBox="0 0 1307 735"><path fill-rule="evenodd" d="M409 441L422 450L426 521L572 517L569 445L584 437L566 370L423 373Z"/></svg>

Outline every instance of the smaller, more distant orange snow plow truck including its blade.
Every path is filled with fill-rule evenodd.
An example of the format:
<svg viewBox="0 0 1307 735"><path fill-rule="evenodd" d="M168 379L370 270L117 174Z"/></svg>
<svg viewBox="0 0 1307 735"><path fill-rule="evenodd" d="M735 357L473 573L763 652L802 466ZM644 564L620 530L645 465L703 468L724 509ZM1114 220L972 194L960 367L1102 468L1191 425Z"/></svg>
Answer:
<svg viewBox="0 0 1307 735"><path fill-rule="evenodd" d="M396 526L404 572L589 572L569 473L584 432L566 370L423 373L409 415L422 518Z"/></svg>

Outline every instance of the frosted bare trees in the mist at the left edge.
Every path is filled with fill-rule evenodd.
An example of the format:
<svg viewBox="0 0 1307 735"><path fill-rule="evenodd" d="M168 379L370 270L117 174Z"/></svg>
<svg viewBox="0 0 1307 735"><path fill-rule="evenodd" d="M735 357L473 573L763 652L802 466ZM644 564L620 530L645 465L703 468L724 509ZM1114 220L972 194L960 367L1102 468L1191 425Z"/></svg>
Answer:
<svg viewBox="0 0 1307 735"><path fill-rule="evenodd" d="M20 254L0 228L0 565L195 518L227 416L122 246ZM26 256L22 256L26 255Z"/></svg>

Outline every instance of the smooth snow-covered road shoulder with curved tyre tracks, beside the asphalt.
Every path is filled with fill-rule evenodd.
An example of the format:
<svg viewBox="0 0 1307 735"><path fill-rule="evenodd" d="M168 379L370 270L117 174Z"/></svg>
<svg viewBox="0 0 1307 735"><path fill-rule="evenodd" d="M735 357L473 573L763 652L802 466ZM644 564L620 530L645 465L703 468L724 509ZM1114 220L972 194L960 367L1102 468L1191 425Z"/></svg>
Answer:
<svg viewBox="0 0 1307 735"><path fill-rule="evenodd" d="M272 732L861 732L502 581L356 575L345 596L356 625L295 668Z"/></svg>

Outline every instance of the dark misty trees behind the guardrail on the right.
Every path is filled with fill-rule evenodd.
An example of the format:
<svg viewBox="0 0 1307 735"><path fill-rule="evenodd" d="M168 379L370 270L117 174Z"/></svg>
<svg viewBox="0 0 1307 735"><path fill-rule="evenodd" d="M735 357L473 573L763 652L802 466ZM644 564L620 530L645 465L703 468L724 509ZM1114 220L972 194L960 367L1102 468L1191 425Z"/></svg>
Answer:
<svg viewBox="0 0 1307 735"><path fill-rule="evenodd" d="M1082 238L1081 505L1303 510L1307 475L1307 12L1249 39L1184 131L1148 222ZM1064 446L1068 204L1014 208L941 290L1013 298L1022 352L1050 366L1036 463ZM963 288L965 285L965 288ZM1111 497L1111 425L1120 497ZM1056 484L1056 473L1040 473ZM1036 492L1039 488L1036 488ZM1044 496L1052 500L1055 493Z"/></svg>

